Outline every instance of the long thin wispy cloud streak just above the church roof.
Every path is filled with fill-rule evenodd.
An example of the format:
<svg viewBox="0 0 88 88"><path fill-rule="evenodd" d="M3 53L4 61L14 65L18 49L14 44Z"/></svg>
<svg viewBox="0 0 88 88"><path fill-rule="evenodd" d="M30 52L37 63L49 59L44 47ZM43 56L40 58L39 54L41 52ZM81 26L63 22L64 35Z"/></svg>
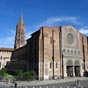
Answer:
<svg viewBox="0 0 88 88"><path fill-rule="evenodd" d="M46 19L45 21L36 24L36 28L41 27L41 26L53 26L57 23L61 22L67 22L67 23L73 23L76 25L81 25L81 23L78 21L77 17L50 17Z"/></svg>

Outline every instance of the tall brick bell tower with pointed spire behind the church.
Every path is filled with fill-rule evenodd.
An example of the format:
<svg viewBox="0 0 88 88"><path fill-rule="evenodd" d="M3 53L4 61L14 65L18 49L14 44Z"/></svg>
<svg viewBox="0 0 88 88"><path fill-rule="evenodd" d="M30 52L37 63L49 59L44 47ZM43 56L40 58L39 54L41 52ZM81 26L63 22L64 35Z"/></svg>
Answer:
<svg viewBox="0 0 88 88"><path fill-rule="evenodd" d="M19 23L16 25L16 36L15 36L15 44L14 48L20 48L24 46L25 41L25 24L23 22L23 15L21 14Z"/></svg>

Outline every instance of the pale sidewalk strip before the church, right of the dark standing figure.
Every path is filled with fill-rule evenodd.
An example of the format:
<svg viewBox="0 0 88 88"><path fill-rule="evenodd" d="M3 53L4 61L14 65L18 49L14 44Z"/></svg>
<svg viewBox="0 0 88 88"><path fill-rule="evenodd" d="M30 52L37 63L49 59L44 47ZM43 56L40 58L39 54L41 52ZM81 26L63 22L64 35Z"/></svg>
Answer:
<svg viewBox="0 0 88 88"><path fill-rule="evenodd" d="M73 82L76 80L88 80L87 77L75 77L75 78L65 78L65 79L59 79L59 80L43 80L43 81L18 81L17 84L20 85L29 85L29 86L35 86L35 85L47 85L47 84L54 84L54 83L65 83L65 82Z"/></svg>

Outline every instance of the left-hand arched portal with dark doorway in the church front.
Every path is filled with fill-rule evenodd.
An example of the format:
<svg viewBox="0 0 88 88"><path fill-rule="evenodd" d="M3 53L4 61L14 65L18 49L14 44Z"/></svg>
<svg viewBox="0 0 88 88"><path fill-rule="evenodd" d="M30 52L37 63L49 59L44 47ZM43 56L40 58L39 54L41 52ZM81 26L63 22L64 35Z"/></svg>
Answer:
<svg viewBox="0 0 88 88"><path fill-rule="evenodd" d="M68 60L66 63L67 77L73 77L73 63L71 60Z"/></svg>

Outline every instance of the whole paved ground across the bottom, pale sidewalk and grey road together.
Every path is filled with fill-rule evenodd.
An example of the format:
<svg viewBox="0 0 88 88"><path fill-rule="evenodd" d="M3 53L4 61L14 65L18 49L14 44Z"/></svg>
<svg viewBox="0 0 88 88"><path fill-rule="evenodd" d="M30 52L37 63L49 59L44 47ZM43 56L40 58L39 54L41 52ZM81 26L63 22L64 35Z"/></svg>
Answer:
<svg viewBox="0 0 88 88"><path fill-rule="evenodd" d="M31 82L17 82L17 88L74 88L76 80L80 80L80 85L83 88L88 88L88 78L65 78L60 80L43 80L43 81L31 81ZM14 84L7 84L6 82L0 82L0 88L14 88Z"/></svg>

